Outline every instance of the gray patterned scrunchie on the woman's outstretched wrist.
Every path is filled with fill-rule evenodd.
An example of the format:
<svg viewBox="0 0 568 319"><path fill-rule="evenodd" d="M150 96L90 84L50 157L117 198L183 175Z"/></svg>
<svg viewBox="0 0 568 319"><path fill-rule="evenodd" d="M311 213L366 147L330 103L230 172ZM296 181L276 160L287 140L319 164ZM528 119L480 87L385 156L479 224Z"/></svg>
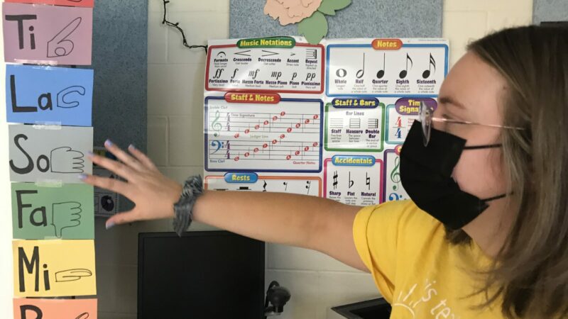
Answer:
<svg viewBox="0 0 568 319"><path fill-rule="evenodd" d="M200 175L187 178L183 184L182 194L178 203L173 205L173 230L181 237L182 233L191 225L193 219L193 206L197 197L203 194L203 180Z"/></svg>

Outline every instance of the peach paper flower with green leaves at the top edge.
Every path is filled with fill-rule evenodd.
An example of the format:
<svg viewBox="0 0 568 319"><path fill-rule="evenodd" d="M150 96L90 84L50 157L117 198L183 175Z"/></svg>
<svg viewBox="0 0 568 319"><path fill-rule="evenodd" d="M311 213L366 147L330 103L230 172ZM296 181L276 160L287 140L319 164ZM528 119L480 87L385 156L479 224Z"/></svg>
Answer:
<svg viewBox="0 0 568 319"><path fill-rule="evenodd" d="M317 44L327 35L327 18L344 9L351 0L267 0L264 13L278 19L282 26L298 23L298 33Z"/></svg>

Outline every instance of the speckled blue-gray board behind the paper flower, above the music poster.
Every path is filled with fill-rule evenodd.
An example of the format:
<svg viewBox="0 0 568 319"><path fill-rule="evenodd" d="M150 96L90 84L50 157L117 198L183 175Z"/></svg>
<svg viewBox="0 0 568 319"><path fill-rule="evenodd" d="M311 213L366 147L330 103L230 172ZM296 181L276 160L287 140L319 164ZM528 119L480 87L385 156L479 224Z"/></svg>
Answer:
<svg viewBox="0 0 568 319"><path fill-rule="evenodd" d="M230 38L298 35L296 26L280 26L266 16L265 4L266 0L231 0ZM327 38L441 37L442 9L442 0L354 0L337 16L327 17Z"/></svg>

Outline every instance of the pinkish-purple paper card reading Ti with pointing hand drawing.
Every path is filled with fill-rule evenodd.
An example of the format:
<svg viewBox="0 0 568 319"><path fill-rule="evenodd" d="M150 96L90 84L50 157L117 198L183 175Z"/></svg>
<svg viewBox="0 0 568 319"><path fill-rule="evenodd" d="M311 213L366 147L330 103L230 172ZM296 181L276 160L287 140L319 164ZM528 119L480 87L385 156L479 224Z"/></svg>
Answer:
<svg viewBox="0 0 568 319"><path fill-rule="evenodd" d="M93 9L2 4L4 59L41 65L90 65Z"/></svg>

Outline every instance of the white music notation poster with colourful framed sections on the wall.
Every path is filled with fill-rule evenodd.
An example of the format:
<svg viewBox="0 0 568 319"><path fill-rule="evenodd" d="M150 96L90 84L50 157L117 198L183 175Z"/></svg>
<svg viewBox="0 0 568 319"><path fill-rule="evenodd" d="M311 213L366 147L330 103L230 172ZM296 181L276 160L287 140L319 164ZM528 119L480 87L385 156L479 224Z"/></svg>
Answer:
<svg viewBox="0 0 568 319"><path fill-rule="evenodd" d="M442 39L209 41L206 188L408 199L400 149L421 103L437 107L448 52Z"/></svg>

